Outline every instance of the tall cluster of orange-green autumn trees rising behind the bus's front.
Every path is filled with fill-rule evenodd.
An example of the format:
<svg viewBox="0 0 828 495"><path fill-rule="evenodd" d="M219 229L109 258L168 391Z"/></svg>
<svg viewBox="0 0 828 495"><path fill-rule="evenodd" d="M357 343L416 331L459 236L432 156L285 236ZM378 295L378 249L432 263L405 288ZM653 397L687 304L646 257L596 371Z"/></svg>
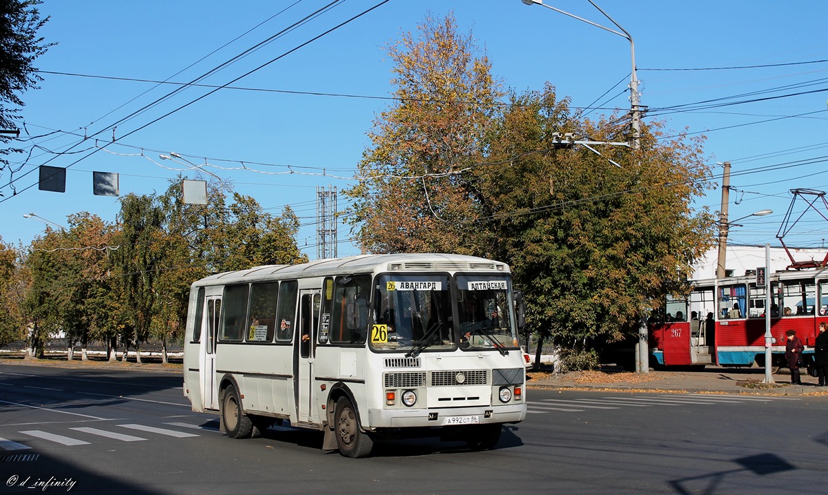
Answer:
<svg viewBox="0 0 828 495"><path fill-rule="evenodd" d="M637 148L561 146L568 132L627 142L628 121L583 118L551 85L504 91L451 16L426 17L388 55L397 103L345 191L364 249L508 262L528 328L593 362L665 294L687 291L714 225L691 206L710 174L700 138L651 122Z"/></svg>

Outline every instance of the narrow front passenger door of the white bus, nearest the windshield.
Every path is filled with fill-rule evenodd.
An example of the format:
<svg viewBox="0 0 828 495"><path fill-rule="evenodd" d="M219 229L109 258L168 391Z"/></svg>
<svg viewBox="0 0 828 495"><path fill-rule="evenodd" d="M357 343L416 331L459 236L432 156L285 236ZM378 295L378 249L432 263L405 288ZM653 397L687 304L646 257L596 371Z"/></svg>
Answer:
<svg viewBox="0 0 828 495"><path fill-rule="evenodd" d="M300 423L318 423L315 410L314 356L316 330L319 324L321 291L300 291L299 331L296 332L296 417Z"/></svg>

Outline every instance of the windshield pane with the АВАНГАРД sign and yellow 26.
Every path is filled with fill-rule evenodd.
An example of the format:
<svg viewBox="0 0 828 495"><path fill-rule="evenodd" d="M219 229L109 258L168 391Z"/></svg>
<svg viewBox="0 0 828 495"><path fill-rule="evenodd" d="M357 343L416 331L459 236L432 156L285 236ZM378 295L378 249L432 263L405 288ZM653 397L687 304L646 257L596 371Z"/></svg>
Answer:
<svg viewBox="0 0 828 495"><path fill-rule="evenodd" d="M374 293L373 348L455 348L448 276L383 275Z"/></svg>

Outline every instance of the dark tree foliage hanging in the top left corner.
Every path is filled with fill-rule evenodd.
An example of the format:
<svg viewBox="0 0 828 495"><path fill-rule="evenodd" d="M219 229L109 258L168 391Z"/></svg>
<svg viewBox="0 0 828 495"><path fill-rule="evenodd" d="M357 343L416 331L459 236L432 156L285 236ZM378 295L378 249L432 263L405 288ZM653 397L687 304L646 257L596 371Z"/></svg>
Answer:
<svg viewBox="0 0 828 495"><path fill-rule="evenodd" d="M37 31L49 17L41 19L36 6L41 0L0 0L0 129L17 130L26 89L37 89L41 77L36 74L35 59L52 44L44 43ZM0 143L10 141L0 134ZM0 170L8 165L2 157L15 148L0 150Z"/></svg>

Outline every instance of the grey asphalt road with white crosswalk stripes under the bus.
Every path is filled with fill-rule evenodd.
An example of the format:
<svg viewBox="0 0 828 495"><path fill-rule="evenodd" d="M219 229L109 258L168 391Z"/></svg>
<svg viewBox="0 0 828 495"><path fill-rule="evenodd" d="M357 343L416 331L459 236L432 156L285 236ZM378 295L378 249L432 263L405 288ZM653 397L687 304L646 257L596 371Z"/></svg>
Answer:
<svg viewBox="0 0 828 495"><path fill-rule="evenodd" d="M436 439L320 450L290 427L230 440L181 374L0 364L5 493L821 493L828 398L529 390L496 449Z"/></svg>

